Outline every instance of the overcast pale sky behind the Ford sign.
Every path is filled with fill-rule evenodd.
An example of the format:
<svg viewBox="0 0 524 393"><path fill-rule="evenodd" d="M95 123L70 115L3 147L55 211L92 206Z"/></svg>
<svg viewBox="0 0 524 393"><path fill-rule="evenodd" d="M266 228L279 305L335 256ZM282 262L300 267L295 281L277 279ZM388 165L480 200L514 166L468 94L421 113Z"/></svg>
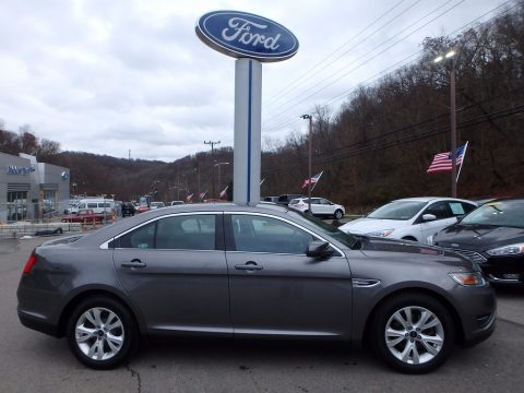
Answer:
<svg viewBox="0 0 524 393"><path fill-rule="evenodd" d="M194 25L238 10L283 24L300 44L262 67L264 146L306 132L300 115L336 112L353 88L415 60L425 37L455 35L504 3L0 0L0 119L62 151L115 157L172 162L209 150L204 141L233 146L235 59L205 46Z"/></svg>

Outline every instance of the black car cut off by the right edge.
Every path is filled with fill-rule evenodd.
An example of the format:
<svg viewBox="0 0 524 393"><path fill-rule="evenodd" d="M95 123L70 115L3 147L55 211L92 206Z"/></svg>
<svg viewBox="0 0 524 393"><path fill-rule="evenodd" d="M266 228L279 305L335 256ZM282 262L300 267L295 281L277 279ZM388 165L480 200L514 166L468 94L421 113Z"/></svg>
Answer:
<svg viewBox="0 0 524 393"><path fill-rule="evenodd" d="M524 199L488 202L432 242L478 263L493 283L524 284Z"/></svg>

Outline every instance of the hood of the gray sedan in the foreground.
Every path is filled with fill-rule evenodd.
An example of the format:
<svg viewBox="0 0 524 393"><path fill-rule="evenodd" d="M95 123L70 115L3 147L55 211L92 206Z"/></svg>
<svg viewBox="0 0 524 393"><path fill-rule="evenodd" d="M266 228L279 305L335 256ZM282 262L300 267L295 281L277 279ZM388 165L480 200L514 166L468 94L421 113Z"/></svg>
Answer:
<svg viewBox="0 0 524 393"><path fill-rule="evenodd" d="M444 250L441 247L426 246L416 241L395 239L367 238L361 241L360 251L372 259L406 263L432 263L453 265L471 271L473 264L469 260Z"/></svg>

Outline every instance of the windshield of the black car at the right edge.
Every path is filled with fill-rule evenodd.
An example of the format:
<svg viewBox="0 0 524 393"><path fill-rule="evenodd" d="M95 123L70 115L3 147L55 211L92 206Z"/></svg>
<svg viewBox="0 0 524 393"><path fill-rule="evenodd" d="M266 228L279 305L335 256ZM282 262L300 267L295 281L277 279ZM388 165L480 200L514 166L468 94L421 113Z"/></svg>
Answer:
<svg viewBox="0 0 524 393"><path fill-rule="evenodd" d="M486 203L466 215L461 224L524 228L524 200Z"/></svg>

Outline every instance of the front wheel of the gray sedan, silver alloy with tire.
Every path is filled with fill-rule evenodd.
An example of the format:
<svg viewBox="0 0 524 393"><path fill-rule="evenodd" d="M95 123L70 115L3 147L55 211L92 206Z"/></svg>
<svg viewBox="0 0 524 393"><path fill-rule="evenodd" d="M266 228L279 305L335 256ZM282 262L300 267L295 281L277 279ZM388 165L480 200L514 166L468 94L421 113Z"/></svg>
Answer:
<svg viewBox="0 0 524 393"><path fill-rule="evenodd" d="M451 355L455 330L448 310L424 294L405 294L382 305L376 313L373 344L393 368L424 373Z"/></svg>

